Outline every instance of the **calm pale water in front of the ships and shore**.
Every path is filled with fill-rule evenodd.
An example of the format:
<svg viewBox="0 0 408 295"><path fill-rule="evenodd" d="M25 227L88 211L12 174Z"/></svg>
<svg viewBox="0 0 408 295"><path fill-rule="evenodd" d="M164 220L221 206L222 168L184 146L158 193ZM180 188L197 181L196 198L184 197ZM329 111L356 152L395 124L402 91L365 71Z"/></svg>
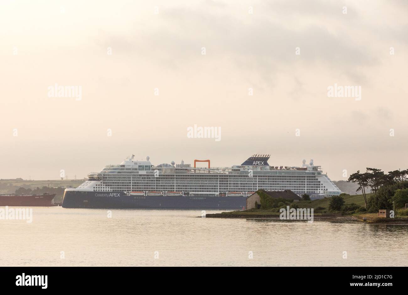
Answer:
<svg viewBox="0 0 408 295"><path fill-rule="evenodd" d="M116 209L108 218L104 209L33 207L31 224L0 220L0 266L408 265L404 225L196 216L200 210Z"/></svg>

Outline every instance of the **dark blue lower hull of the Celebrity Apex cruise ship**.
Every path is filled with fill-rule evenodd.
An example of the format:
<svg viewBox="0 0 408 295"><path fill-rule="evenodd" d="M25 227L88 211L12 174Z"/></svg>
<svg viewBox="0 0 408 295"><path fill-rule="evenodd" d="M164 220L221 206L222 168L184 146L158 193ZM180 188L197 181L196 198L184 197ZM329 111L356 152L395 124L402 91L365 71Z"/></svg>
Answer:
<svg viewBox="0 0 408 295"><path fill-rule="evenodd" d="M64 208L244 209L246 197L135 196L123 192L65 191Z"/></svg>

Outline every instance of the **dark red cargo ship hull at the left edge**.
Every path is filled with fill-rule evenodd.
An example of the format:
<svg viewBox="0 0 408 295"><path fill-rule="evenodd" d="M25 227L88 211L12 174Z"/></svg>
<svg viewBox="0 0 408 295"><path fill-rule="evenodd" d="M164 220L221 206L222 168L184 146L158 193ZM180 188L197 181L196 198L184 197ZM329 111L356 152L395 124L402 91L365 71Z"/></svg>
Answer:
<svg viewBox="0 0 408 295"><path fill-rule="evenodd" d="M56 206L51 204L55 195L0 195L0 206Z"/></svg>

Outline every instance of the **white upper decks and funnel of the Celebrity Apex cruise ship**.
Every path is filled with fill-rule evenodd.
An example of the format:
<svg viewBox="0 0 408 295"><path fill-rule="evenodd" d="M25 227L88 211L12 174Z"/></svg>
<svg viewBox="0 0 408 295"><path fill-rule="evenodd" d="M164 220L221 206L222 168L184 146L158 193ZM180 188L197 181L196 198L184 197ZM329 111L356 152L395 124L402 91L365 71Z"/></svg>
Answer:
<svg viewBox="0 0 408 295"><path fill-rule="evenodd" d="M126 192L133 195L233 196L248 195L258 189L291 190L311 198L339 195L340 189L323 174L320 166L303 160L302 167L269 166L269 155L253 155L241 165L196 168L191 164L160 164L127 158L119 165L105 166L89 173L89 180L67 191ZM195 160L195 162L203 162Z"/></svg>

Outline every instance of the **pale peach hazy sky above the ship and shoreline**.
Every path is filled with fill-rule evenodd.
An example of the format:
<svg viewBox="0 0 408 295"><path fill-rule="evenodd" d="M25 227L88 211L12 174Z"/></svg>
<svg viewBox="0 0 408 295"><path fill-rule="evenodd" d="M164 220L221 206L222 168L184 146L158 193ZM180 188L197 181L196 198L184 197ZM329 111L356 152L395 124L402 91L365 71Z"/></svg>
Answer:
<svg viewBox="0 0 408 295"><path fill-rule="evenodd" d="M313 159L332 180L407 169L407 15L404 0L2 0L0 178L83 178L132 154Z"/></svg>

